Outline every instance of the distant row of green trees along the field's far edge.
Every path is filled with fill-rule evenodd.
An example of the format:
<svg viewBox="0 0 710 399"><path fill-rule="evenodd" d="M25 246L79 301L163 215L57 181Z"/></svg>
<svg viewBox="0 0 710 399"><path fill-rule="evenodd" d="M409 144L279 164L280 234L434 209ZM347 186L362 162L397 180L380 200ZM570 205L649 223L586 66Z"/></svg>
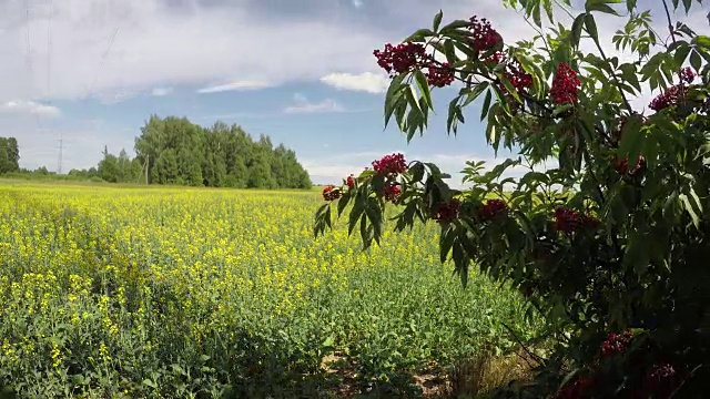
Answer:
<svg viewBox="0 0 710 399"><path fill-rule="evenodd" d="M12 146L14 145L14 146ZM14 150L12 150L14 149ZM149 183L234 188L310 188L311 177L293 150L273 145L267 135L254 140L241 126L212 127L186 117L152 115L135 137L135 157L104 146L95 167L71 170L69 178L110 183ZM10 161L6 161L10 160ZM12 137L0 142L0 173L20 172ZM21 174L49 175L45 167Z"/></svg>

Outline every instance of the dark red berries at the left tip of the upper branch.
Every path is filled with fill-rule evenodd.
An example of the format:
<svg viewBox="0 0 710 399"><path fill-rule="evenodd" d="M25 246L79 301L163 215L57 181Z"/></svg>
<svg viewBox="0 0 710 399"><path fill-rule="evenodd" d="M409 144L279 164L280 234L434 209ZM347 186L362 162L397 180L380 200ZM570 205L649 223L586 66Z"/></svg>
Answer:
<svg viewBox="0 0 710 399"><path fill-rule="evenodd" d="M377 58L377 64L387 71L390 78L426 68L427 81L433 86L444 88L452 84L455 79L450 64L434 60L426 53L426 48L422 43L407 42L397 45L387 43L383 51L375 50L373 54Z"/></svg>

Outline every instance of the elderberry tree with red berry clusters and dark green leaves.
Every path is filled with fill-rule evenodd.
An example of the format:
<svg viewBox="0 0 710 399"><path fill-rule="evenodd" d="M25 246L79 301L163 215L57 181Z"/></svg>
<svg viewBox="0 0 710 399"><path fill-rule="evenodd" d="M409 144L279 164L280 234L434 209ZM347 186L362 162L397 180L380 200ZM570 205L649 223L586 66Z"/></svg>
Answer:
<svg viewBox="0 0 710 399"><path fill-rule="evenodd" d="M506 43L490 21L442 24L439 12L403 45L375 52L392 76L385 124L394 116L412 140L427 127L432 90L457 84L448 132L464 123L467 105L480 104L490 146L518 156L493 168L468 162L466 190L449 187L433 163L384 156L324 190L315 235L352 204L348 225L367 248L379 243L384 208L394 203L396 231L417 221L440 225L440 259L454 263L464 285L476 266L519 289L547 317L554 351L538 359L534 383L498 397L707 393L710 38L672 23L669 10L680 1L669 2L661 2L667 41L645 2L587 0L577 14L558 2L574 17L565 27L550 1L506 0L538 35ZM626 18L612 43L635 61L604 51L600 14ZM584 51L582 41L596 51ZM633 109L630 99L649 88L660 92L650 111ZM514 166L529 172L506 177Z"/></svg>

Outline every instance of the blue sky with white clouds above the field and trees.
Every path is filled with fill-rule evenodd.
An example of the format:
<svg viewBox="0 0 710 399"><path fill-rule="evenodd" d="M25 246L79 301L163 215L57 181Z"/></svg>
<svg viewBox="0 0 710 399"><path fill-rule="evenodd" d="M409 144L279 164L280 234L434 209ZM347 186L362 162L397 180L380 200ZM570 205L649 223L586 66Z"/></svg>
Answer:
<svg viewBox="0 0 710 399"><path fill-rule="evenodd" d="M638 3L663 31L661 2ZM487 18L508 42L534 32L500 0L3 0L0 136L18 139L21 167L50 171L60 167L61 140L65 173L97 165L104 146L134 155L152 114L186 116L271 136L296 152L314 183L338 183L403 152L438 163L456 185L467 160L500 160L479 109L469 106L458 135L447 136L455 91L437 90L429 130L407 144L396 124L384 129L388 79L373 55L430 27L439 9L444 23ZM710 34L708 11L677 17ZM622 22L598 17L607 53Z"/></svg>

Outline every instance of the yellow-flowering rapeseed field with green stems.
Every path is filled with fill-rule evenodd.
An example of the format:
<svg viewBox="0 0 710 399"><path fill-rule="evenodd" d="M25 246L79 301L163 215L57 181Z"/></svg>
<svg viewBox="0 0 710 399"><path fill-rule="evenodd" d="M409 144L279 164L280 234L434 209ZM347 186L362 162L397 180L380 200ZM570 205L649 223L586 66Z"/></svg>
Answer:
<svg viewBox="0 0 710 399"><path fill-rule="evenodd" d="M0 185L0 385L26 397L413 389L530 334L437 226L314 239L317 192ZM389 228L390 229L390 228ZM333 360L333 361L326 361ZM433 371L434 370L434 371Z"/></svg>

